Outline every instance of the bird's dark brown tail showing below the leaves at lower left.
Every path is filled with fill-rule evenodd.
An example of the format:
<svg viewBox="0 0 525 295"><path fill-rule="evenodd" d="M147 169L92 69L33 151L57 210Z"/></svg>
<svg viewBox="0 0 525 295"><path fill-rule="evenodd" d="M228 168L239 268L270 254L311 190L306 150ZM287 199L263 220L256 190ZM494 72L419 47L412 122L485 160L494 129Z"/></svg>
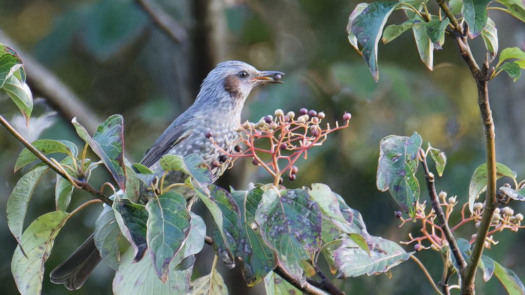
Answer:
<svg viewBox="0 0 525 295"><path fill-rule="evenodd" d="M91 235L75 253L51 271L49 277L51 282L64 284L69 290L77 290L84 285L100 260L100 252Z"/></svg>

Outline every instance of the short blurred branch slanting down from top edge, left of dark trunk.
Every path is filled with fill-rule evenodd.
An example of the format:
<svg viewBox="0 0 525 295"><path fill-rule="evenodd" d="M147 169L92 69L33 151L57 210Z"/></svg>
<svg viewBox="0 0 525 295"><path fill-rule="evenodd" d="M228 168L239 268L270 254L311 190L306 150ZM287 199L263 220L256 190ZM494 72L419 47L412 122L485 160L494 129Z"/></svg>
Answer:
<svg viewBox="0 0 525 295"><path fill-rule="evenodd" d="M177 43L182 43L188 37L186 30L179 25L173 17L164 12L159 5L149 0L136 0L146 13L151 17L153 23L159 27L168 37Z"/></svg>

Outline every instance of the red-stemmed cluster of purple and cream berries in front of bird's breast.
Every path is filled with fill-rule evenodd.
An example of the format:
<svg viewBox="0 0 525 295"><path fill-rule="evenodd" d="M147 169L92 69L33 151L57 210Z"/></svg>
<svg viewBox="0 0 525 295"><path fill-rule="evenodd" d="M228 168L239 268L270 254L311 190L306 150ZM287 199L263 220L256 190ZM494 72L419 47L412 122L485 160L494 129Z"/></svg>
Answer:
<svg viewBox="0 0 525 295"><path fill-rule="evenodd" d="M307 150L312 146L322 145L327 139L328 133L348 127L351 118L349 113L344 113L344 126L339 126L335 122L335 128L330 128L327 124L322 129L320 123L324 119L323 112L307 109L299 110L296 118L294 112L285 114L282 110L275 111L274 116L267 115L262 117L257 123L245 122L239 125L239 140L234 144L236 153L228 153L221 150L230 157L252 157L254 165L264 167L274 176L274 185L282 183L281 175L288 171L288 179L296 179L298 168L293 165L299 157L304 154L307 158ZM211 139L213 141L213 138ZM269 140L269 146L268 146ZM240 144L247 146L241 148ZM266 144L266 148L260 147ZM218 148L218 146L217 146ZM268 159L268 160L266 160Z"/></svg>

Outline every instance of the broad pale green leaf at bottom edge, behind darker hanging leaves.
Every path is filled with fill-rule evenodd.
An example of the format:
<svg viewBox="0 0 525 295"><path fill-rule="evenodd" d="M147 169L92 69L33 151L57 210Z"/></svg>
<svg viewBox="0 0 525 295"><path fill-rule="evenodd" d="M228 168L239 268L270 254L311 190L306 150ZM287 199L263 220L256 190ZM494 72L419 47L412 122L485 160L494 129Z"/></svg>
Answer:
<svg viewBox="0 0 525 295"><path fill-rule="evenodd" d="M172 265L169 281L163 283L153 270L149 255L136 263L133 263L133 257L131 248L122 255L119 269L113 278L114 295L186 294L193 265L181 270L175 270L176 266Z"/></svg>

